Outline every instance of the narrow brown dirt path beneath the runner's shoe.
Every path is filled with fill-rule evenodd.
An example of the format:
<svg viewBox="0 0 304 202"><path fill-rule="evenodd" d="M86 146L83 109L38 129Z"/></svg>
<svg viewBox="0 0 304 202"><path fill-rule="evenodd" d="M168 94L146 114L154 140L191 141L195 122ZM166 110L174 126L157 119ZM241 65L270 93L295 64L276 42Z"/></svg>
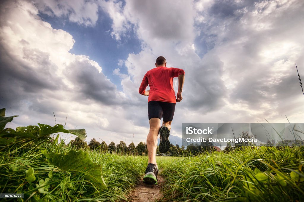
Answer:
<svg viewBox="0 0 304 202"><path fill-rule="evenodd" d="M140 181L128 199L133 202L151 202L162 197L161 187L164 185L164 178L157 176L157 184L149 185Z"/></svg>

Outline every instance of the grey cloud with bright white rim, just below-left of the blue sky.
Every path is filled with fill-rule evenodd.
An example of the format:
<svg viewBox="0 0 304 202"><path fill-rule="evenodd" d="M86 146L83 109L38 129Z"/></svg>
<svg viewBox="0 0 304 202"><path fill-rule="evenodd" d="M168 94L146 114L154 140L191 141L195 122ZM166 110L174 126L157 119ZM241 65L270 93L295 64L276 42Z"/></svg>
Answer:
<svg viewBox="0 0 304 202"><path fill-rule="evenodd" d="M75 93L80 93L75 97L79 101L94 99L106 105L122 102L122 98L116 93L116 86L87 61L71 62L64 74L74 84Z"/></svg>

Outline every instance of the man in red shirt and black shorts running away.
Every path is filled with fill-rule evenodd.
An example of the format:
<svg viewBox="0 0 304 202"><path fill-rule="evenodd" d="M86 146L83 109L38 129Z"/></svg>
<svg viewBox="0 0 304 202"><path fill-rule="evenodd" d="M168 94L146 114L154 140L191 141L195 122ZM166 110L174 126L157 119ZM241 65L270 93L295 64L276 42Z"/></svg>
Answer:
<svg viewBox="0 0 304 202"><path fill-rule="evenodd" d="M159 152L166 153L170 148L169 135L174 116L175 104L183 98L185 71L183 69L166 67L163 56L156 59L155 67L149 70L140 84L138 92L148 97L148 117L150 131L147 136L148 166L143 177L145 183L157 183L158 167L156 163L157 136L160 133ZM173 78L178 77L178 93L175 97ZM150 90L146 91L149 85ZM161 117L163 124L161 126Z"/></svg>

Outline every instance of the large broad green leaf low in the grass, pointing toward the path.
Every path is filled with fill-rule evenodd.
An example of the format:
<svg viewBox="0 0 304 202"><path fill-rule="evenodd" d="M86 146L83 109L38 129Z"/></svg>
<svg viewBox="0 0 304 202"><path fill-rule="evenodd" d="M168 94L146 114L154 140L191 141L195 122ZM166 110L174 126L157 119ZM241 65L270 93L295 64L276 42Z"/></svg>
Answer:
<svg viewBox="0 0 304 202"><path fill-rule="evenodd" d="M82 150L70 150L66 155L57 153L42 153L47 157L49 163L57 166L61 170L84 172L86 179L90 180L95 187L105 189L106 184L102 177L102 168L100 165L93 163L87 152Z"/></svg>

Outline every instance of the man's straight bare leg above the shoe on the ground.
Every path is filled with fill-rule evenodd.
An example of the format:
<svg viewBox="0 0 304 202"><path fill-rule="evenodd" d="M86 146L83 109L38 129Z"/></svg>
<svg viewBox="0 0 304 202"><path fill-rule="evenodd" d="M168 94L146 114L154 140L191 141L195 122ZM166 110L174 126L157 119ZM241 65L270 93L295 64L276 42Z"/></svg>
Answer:
<svg viewBox="0 0 304 202"><path fill-rule="evenodd" d="M157 149L157 136L161 125L159 118L151 118L149 120L150 131L147 136L147 149L148 149L148 163L156 164L156 149Z"/></svg>

